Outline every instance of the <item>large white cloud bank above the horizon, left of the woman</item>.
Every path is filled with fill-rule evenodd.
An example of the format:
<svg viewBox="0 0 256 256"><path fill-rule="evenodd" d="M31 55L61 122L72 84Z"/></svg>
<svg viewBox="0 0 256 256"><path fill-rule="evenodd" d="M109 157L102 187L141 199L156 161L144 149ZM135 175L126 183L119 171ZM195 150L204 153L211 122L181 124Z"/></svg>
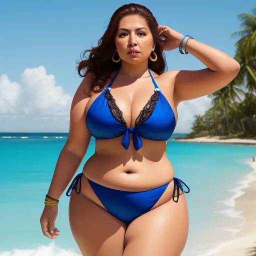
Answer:
<svg viewBox="0 0 256 256"><path fill-rule="evenodd" d="M21 83L0 76L0 131L68 131L72 97L43 66L26 68Z"/></svg>

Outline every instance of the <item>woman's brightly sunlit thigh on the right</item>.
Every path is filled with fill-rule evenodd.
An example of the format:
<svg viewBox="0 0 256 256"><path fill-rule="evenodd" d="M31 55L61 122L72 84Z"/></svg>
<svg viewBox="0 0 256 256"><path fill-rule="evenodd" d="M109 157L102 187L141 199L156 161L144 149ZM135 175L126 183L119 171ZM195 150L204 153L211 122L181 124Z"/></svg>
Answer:
<svg viewBox="0 0 256 256"><path fill-rule="evenodd" d="M188 234L185 195L172 199L133 220L124 237L123 256L179 256Z"/></svg>

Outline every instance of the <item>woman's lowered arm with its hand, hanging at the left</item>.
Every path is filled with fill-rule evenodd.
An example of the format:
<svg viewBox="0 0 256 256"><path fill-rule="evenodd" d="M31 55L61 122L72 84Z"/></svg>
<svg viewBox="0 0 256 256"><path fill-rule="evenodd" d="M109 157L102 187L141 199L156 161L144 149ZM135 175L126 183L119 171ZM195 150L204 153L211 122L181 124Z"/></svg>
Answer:
<svg viewBox="0 0 256 256"><path fill-rule="evenodd" d="M69 133L55 166L47 195L59 199L71 178L78 169L88 148L91 134L85 123L85 107L89 96L84 89L90 86L90 73L87 73L78 86L70 109ZM55 238L59 231L54 228L57 216L57 206L46 206L43 209L40 222L44 235ZM52 232L53 231L53 232Z"/></svg>

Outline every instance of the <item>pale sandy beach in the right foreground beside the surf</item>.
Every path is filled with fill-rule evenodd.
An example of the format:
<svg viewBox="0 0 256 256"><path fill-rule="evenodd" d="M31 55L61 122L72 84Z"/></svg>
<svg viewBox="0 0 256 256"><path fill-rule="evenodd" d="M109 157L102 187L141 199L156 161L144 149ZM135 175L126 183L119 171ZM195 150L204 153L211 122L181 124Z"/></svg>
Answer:
<svg viewBox="0 0 256 256"><path fill-rule="evenodd" d="M250 162L254 172L248 174L248 186L235 198L234 210L241 212L244 224L235 239L219 244L212 256L256 256L256 162Z"/></svg>

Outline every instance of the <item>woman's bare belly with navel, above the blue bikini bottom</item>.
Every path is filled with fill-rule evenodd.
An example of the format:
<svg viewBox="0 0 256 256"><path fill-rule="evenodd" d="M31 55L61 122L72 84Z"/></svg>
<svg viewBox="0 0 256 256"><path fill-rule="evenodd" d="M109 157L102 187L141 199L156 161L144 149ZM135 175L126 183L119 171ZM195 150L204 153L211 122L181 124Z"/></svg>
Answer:
<svg viewBox="0 0 256 256"><path fill-rule="evenodd" d="M165 153L161 157L146 158L141 152L116 155L96 152L84 164L83 173L100 185L126 191L159 187L174 176Z"/></svg>

